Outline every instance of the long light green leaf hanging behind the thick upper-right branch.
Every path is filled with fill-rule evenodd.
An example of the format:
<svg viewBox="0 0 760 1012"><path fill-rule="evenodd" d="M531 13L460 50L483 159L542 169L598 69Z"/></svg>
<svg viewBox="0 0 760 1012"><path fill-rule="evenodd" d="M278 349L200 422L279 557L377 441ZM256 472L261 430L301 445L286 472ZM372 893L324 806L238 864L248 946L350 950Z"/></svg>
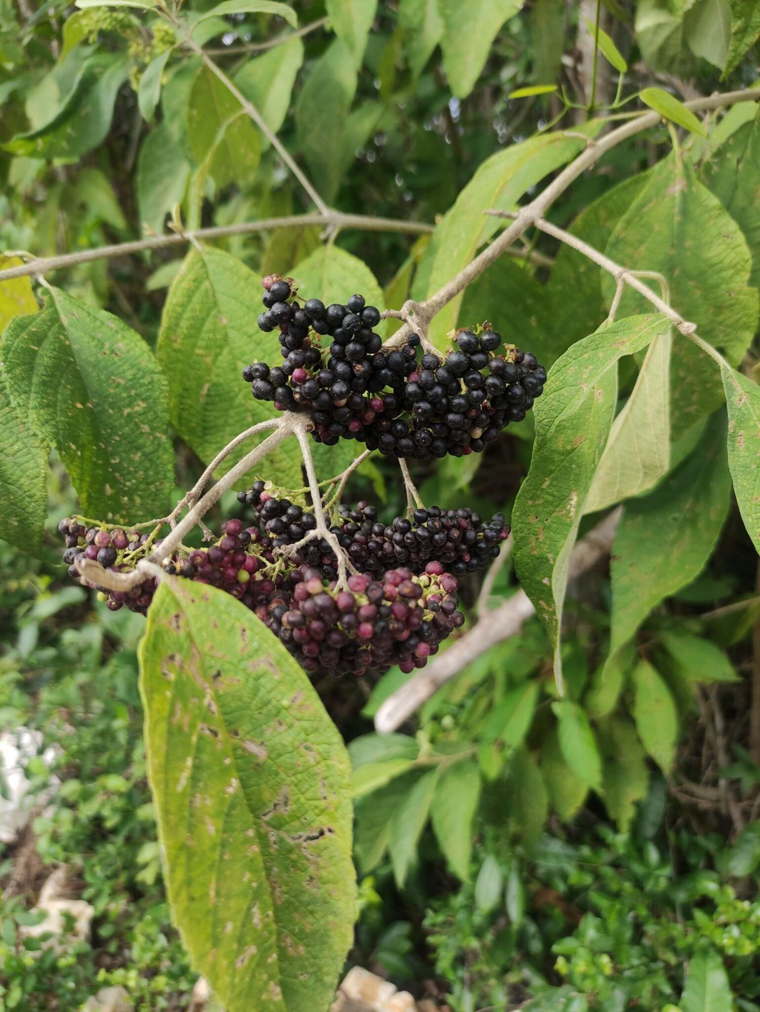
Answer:
<svg viewBox="0 0 760 1012"><path fill-rule="evenodd" d="M468 5L458 5L470 9ZM585 129L594 133L598 125L586 124ZM584 142L578 138L546 134L510 145L486 159L436 228L433 239L436 254L427 294L438 291L465 267L499 227L499 220L484 217L484 210L491 207L511 210L527 189L583 149ZM461 294L453 299L431 325L431 339L441 349L456 324L461 302Z"/></svg>

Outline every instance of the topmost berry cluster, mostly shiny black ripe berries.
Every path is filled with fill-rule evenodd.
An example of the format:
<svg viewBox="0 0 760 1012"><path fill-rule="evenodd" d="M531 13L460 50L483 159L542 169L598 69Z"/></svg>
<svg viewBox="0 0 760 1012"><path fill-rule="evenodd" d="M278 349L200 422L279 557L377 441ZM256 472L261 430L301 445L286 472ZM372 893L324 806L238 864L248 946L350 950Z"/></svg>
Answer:
<svg viewBox="0 0 760 1012"><path fill-rule="evenodd" d="M374 306L352 296L345 306L319 299L300 308L289 279L268 276L259 329L279 327L284 362L243 369L253 397L280 411L309 412L313 437L334 445L358 439L369 449L428 459L480 452L510 422L522 421L543 393L546 370L535 355L504 345L484 324L460 330L458 347L442 360L420 354L410 335L400 349L383 349ZM322 348L321 338L332 339Z"/></svg>

